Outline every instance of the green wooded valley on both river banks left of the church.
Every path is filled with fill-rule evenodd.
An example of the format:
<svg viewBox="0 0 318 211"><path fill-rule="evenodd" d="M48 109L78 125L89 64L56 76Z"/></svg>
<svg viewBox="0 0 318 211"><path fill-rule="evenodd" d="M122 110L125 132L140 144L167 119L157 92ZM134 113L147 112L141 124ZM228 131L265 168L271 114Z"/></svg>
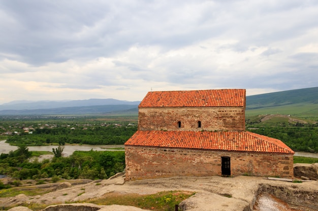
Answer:
<svg viewBox="0 0 318 211"><path fill-rule="evenodd" d="M0 175L14 178L12 184L0 182L0 189L19 186L20 180L45 178L107 179L125 168L124 151L75 151L63 157L63 145L122 145L137 131L137 122L100 117L45 118L19 117L0 122L1 140L18 146L0 155ZM52 146L52 152L28 151L28 146ZM53 159L39 161L35 156L53 154Z"/></svg>

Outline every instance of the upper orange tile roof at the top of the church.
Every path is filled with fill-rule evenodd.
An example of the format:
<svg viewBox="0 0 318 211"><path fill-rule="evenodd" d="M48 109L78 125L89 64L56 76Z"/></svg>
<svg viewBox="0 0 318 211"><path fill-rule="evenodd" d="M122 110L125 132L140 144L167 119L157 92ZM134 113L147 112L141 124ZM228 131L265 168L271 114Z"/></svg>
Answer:
<svg viewBox="0 0 318 211"><path fill-rule="evenodd" d="M139 107L245 106L245 95L243 89L148 92Z"/></svg>

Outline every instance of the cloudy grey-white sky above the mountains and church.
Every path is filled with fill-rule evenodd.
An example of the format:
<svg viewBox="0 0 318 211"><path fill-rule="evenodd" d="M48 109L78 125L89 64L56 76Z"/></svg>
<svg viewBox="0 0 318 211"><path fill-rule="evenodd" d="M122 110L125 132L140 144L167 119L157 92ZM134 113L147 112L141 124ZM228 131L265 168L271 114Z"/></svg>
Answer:
<svg viewBox="0 0 318 211"><path fill-rule="evenodd" d="M318 1L2 0L0 104L318 86Z"/></svg>

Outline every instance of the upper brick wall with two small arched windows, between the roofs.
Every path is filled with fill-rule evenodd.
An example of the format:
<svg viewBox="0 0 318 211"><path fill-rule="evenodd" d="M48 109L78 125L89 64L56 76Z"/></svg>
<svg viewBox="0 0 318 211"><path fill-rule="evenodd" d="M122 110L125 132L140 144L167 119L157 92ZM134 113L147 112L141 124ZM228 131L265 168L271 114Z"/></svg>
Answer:
<svg viewBox="0 0 318 211"><path fill-rule="evenodd" d="M178 127L178 121L181 127ZM201 121L201 128L198 127ZM138 130L245 131L244 107L139 108Z"/></svg>

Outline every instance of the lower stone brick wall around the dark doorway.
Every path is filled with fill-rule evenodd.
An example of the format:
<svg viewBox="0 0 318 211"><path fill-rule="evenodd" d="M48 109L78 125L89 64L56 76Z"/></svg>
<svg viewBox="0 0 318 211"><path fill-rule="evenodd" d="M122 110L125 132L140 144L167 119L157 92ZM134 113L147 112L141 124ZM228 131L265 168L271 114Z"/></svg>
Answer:
<svg viewBox="0 0 318 211"><path fill-rule="evenodd" d="M220 176L221 157L231 159L231 176L293 178L293 154L205 151L125 146L126 181L177 176Z"/></svg>

